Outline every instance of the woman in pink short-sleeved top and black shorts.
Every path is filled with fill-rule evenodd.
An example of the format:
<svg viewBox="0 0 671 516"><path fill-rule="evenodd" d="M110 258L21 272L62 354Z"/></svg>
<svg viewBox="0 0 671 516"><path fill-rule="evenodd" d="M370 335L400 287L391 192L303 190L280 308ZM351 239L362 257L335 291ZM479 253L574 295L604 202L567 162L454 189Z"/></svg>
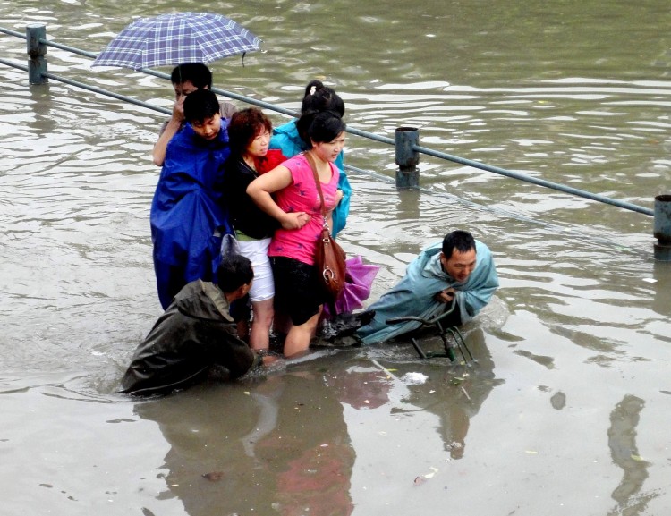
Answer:
<svg viewBox="0 0 671 516"><path fill-rule="evenodd" d="M344 147L345 124L329 111L309 116L305 136L310 149L259 176L247 188L251 199L281 224L270 242L268 256L275 276L275 305L291 319L285 357L308 350L326 300L315 266L323 218L310 161L319 178L329 226L333 209L343 199L343 191L338 189L340 170L334 162Z"/></svg>

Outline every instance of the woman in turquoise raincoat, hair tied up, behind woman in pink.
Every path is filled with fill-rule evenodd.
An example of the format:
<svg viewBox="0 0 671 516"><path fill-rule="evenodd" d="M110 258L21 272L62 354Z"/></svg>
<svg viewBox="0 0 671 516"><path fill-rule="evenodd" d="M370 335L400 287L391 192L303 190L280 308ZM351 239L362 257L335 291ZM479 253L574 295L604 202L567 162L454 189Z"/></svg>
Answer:
<svg viewBox="0 0 671 516"><path fill-rule="evenodd" d="M305 131L310 127L310 122L315 114L324 111L331 111L344 116L344 102L335 90L324 86L320 80L310 80L305 87L305 95L301 104L301 118L280 125L273 130L273 136L270 139L270 148L280 149L282 154L287 157L293 157L311 148L310 139L305 137ZM341 152L334 162L340 169L340 179L338 181L338 190L343 192L343 198L335 207L333 212L333 235L339 233L347 222L347 216L350 212L350 197L352 196L352 187L344 173L343 153Z"/></svg>

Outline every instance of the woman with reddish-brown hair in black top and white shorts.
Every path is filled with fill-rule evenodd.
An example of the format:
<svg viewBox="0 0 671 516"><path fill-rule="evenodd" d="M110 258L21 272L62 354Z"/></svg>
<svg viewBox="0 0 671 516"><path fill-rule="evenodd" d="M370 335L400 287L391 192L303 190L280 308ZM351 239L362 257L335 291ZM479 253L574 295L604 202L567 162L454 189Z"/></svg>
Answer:
<svg viewBox="0 0 671 516"><path fill-rule="evenodd" d="M254 267L254 283L250 290L253 318L249 334L250 346L254 350L268 350L275 296L268 246L279 224L256 205L246 190L259 173L268 171L269 164L278 165L285 161L279 150L268 151L272 130L268 116L258 107L238 111L228 124L231 156L224 174L225 204L240 253L250 258Z"/></svg>

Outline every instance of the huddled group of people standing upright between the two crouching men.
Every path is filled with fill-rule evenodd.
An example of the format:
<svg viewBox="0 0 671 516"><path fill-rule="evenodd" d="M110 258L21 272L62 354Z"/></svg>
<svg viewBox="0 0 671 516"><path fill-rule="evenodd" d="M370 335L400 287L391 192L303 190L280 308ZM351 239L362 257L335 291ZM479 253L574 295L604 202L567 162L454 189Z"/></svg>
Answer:
<svg viewBox="0 0 671 516"><path fill-rule="evenodd" d="M209 87L183 95L192 85L188 72L196 67L176 69L175 106L183 103L186 124L166 145L151 209L159 300L167 309L185 284L216 282L222 237L233 235L254 270L251 328L241 336L252 349L266 351L272 325L285 335L286 356L306 351L325 300L314 267L322 217L308 159L336 234L344 227L352 192L342 171L344 102L313 80L300 117L274 134L257 107L225 118L225 106ZM156 157L155 151L155 162ZM244 309L238 312L234 315L244 323ZM240 328L245 331L244 324Z"/></svg>

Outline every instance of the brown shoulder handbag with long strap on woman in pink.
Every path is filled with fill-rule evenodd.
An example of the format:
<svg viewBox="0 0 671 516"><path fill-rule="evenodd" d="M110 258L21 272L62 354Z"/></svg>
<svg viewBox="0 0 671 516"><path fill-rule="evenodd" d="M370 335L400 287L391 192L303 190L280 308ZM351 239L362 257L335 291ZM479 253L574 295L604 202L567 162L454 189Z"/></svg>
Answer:
<svg viewBox="0 0 671 516"><path fill-rule="evenodd" d="M315 266L319 269L319 279L324 285L324 289L330 300L335 301L344 289L344 276L347 270L344 263L345 254L343 248L338 245L335 238L331 236L331 233L328 230L327 210L326 207L324 207L324 194L321 191L321 182L319 181L319 175L315 168L315 164L312 161L312 156L306 153L305 157L315 176L315 183L317 184L317 190L319 191L319 202L321 203L321 217L323 220L321 233L319 233L319 240L317 241L317 249L315 250Z"/></svg>

